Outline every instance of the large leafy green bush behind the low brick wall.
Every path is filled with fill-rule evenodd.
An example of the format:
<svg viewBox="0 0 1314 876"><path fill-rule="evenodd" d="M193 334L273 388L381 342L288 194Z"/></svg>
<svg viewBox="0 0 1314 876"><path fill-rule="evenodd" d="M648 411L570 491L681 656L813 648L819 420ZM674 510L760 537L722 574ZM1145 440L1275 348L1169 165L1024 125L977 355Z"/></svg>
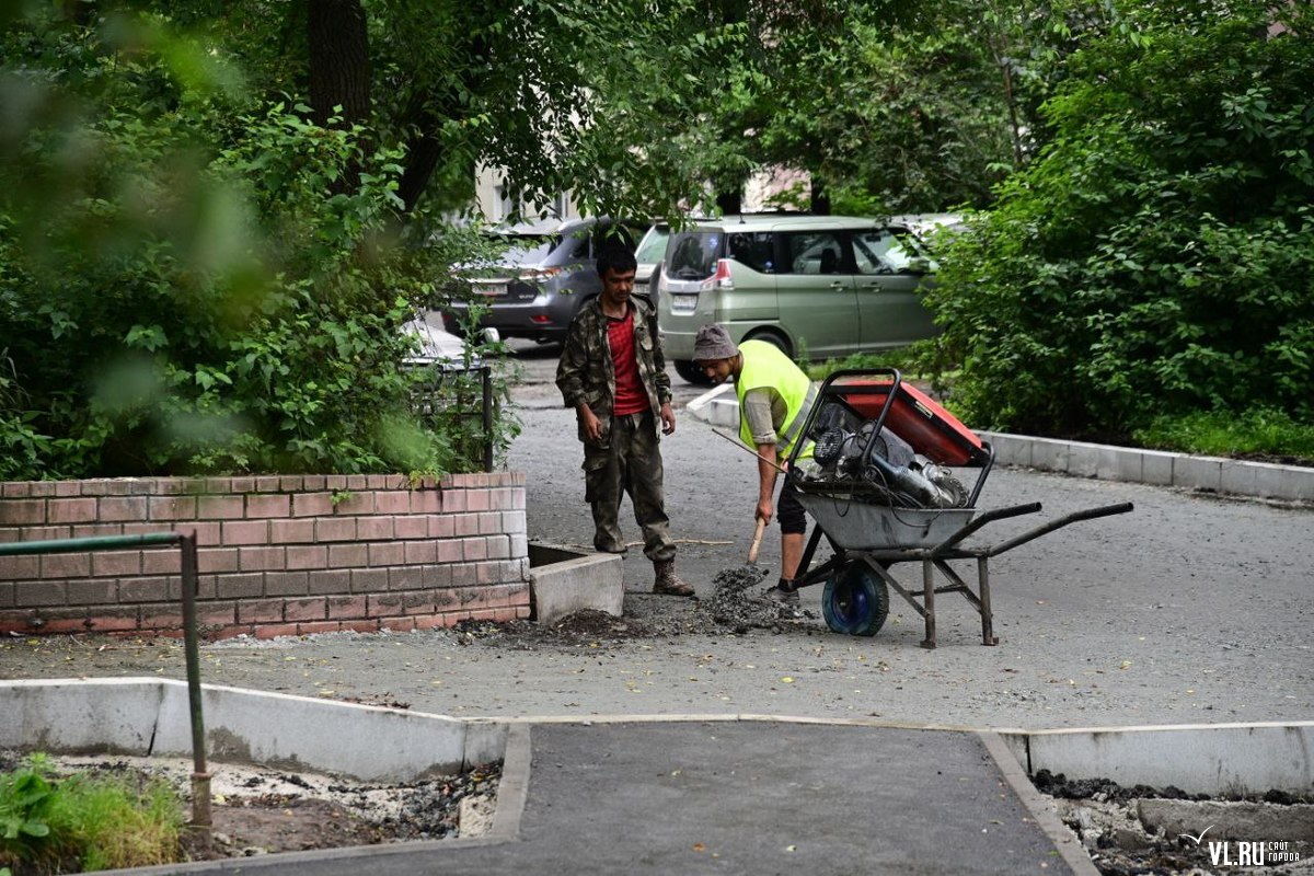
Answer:
<svg viewBox="0 0 1314 876"><path fill-rule="evenodd" d="M459 256L401 152L163 18L45 14L0 43L0 477L478 468L413 407L398 330Z"/></svg>

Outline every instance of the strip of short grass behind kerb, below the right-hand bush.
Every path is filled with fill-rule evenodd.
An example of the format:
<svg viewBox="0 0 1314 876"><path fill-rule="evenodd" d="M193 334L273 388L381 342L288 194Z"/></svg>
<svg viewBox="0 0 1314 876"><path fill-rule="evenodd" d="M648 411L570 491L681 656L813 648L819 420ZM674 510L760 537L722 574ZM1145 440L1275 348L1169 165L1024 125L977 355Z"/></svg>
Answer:
<svg viewBox="0 0 1314 876"><path fill-rule="evenodd" d="M1133 437L1147 448L1179 453L1314 462L1314 426L1275 410L1160 416Z"/></svg>

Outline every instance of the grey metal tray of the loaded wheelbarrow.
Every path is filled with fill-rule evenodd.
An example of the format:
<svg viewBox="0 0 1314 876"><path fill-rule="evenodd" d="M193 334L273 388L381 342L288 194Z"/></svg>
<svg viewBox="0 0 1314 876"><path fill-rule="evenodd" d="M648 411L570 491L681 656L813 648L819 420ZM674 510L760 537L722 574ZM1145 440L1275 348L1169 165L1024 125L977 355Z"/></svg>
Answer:
<svg viewBox="0 0 1314 876"><path fill-rule="evenodd" d="M803 491L799 503L845 550L933 548L966 527L975 508L892 508L844 491Z"/></svg>

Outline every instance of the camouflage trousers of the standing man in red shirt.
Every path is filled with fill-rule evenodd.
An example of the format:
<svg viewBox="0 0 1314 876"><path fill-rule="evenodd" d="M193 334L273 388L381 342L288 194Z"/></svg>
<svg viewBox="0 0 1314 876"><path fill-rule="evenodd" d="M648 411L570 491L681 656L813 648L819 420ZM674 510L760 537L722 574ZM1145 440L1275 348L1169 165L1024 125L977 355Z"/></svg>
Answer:
<svg viewBox="0 0 1314 876"><path fill-rule="evenodd" d="M675 542L662 494L657 418L650 411L616 416L608 432L607 447L583 445L583 498L593 507L593 545L611 553L624 550L618 516L620 498L628 493L635 521L644 532L644 556L653 562L671 559Z"/></svg>

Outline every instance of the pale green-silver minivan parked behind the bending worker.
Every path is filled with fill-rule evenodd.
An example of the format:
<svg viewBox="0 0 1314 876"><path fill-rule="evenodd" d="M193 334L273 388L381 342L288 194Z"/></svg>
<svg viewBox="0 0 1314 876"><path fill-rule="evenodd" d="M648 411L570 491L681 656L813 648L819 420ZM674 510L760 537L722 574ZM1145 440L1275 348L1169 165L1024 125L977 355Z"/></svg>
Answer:
<svg viewBox="0 0 1314 876"><path fill-rule="evenodd" d="M930 225L951 223L955 217ZM674 231L654 274L666 359L691 383L694 338L721 323L795 359L903 347L938 332L921 303L934 263L912 217L729 215Z"/></svg>

